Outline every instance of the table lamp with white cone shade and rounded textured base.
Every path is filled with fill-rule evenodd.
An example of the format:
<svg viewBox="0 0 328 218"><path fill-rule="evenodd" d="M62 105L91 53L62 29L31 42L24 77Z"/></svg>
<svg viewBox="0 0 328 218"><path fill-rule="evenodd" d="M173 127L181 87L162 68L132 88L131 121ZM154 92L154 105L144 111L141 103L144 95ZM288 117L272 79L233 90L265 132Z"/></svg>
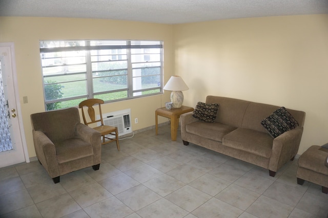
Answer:
<svg viewBox="0 0 328 218"><path fill-rule="evenodd" d="M183 93L181 91L189 90L185 81L179 76L171 76L163 89L172 91L171 102L174 108L180 108L182 106Z"/></svg>

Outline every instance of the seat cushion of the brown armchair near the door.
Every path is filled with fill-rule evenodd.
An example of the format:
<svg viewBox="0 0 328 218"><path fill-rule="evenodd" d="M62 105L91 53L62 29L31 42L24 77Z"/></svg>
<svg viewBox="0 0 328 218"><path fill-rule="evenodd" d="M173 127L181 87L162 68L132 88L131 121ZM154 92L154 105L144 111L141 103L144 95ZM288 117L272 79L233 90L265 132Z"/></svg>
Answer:
<svg viewBox="0 0 328 218"><path fill-rule="evenodd" d="M56 142L55 148L59 164L93 156L92 145L77 137Z"/></svg>

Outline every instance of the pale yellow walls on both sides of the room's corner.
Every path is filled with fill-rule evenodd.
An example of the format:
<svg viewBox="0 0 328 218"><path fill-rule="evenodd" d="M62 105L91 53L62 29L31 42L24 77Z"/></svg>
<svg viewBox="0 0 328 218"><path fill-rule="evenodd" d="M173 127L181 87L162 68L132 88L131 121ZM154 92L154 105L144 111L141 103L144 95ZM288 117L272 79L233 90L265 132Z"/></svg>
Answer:
<svg viewBox="0 0 328 218"><path fill-rule="evenodd" d="M0 42L14 42L19 101L29 156L35 151L30 114L45 110L38 41L56 39L164 40L165 82L182 76L185 105L207 95L281 105L306 112L299 154L328 141L328 15L217 20L182 25L74 18L0 17ZM131 108L133 130L152 126L164 95L104 105ZM23 96L29 102L23 103ZM167 121L159 118L160 122Z"/></svg>

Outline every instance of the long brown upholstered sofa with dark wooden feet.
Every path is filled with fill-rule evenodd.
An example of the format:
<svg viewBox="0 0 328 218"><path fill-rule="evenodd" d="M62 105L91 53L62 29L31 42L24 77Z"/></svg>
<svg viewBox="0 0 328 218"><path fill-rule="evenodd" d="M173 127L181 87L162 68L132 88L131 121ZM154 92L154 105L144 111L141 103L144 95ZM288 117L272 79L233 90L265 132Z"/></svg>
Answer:
<svg viewBox="0 0 328 218"><path fill-rule="evenodd" d="M273 136L276 127L264 127L264 121L272 118L274 112L281 108L279 106L220 96L207 96L204 104L218 105L217 112L212 113L215 115L213 122L200 120L195 116L196 109L182 114L183 144L193 143L269 169L271 177L297 155L305 112L285 108L297 125ZM273 120L277 121L276 118Z"/></svg>

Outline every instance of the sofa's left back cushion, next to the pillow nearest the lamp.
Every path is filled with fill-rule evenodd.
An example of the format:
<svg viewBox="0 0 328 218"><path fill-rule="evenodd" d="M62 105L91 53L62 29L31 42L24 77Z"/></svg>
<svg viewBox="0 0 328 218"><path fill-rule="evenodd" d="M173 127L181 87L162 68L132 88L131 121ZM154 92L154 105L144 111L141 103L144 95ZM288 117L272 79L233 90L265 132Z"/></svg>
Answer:
<svg viewBox="0 0 328 218"><path fill-rule="evenodd" d="M216 122L235 127L241 127L245 111L250 104L249 101L220 96L207 96L206 103L219 104Z"/></svg>

